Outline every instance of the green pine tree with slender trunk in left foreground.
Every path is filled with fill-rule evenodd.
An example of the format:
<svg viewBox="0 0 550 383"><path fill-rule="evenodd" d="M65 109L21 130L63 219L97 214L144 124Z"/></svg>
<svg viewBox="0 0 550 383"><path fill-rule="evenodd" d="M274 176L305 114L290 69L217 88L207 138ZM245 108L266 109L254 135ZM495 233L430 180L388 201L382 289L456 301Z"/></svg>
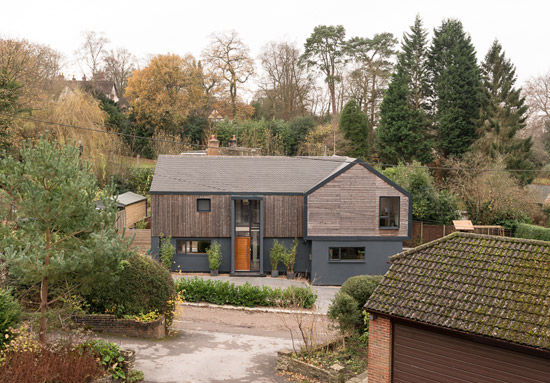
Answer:
<svg viewBox="0 0 550 383"><path fill-rule="evenodd" d="M0 223L0 263L21 285L40 286L44 342L48 306L60 294L108 281L128 255L128 244L116 233L115 200L108 190L99 193L75 145L42 138L19 157L0 159L0 217L12 216ZM104 210L96 209L97 196Z"/></svg>

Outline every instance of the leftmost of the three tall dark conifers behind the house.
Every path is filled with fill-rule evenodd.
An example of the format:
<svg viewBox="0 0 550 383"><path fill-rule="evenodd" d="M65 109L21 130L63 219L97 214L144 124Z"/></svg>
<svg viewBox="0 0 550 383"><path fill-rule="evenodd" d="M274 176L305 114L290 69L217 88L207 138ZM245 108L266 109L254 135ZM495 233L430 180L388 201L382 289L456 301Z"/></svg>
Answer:
<svg viewBox="0 0 550 383"><path fill-rule="evenodd" d="M382 162L397 164L433 159L429 137L426 31L416 17L410 33L403 35L396 71L380 105L376 152Z"/></svg>

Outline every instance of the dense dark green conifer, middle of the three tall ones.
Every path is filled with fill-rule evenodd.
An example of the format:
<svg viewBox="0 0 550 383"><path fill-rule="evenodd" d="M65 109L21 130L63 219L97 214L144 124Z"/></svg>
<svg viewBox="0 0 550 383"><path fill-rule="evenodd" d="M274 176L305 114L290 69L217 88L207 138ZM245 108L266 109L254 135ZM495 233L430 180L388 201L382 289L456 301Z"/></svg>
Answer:
<svg viewBox="0 0 550 383"><path fill-rule="evenodd" d="M438 149L444 157L462 155L477 138L480 89L476 52L458 20L435 29L428 66Z"/></svg>

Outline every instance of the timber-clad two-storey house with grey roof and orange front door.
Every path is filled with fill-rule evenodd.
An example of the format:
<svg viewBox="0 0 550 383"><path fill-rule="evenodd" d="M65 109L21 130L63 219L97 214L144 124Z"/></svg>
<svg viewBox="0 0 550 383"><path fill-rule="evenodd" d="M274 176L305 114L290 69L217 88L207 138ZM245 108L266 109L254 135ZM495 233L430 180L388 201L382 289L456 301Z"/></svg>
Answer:
<svg viewBox="0 0 550 383"><path fill-rule="evenodd" d="M216 240L221 272L264 275L274 240L297 238L295 272L340 285L383 274L410 238L409 193L348 157L163 155L150 195L151 249L170 236L181 271L207 272Z"/></svg>

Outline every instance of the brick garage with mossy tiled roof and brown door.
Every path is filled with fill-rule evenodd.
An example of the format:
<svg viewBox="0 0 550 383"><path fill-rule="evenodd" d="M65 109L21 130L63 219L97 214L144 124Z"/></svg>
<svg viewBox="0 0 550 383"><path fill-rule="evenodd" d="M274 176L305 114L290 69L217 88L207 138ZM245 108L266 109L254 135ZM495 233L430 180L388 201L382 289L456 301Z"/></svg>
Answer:
<svg viewBox="0 0 550 383"><path fill-rule="evenodd" d="M369 383L550 382L550 242L457 232L390 262Z"/></svg>

